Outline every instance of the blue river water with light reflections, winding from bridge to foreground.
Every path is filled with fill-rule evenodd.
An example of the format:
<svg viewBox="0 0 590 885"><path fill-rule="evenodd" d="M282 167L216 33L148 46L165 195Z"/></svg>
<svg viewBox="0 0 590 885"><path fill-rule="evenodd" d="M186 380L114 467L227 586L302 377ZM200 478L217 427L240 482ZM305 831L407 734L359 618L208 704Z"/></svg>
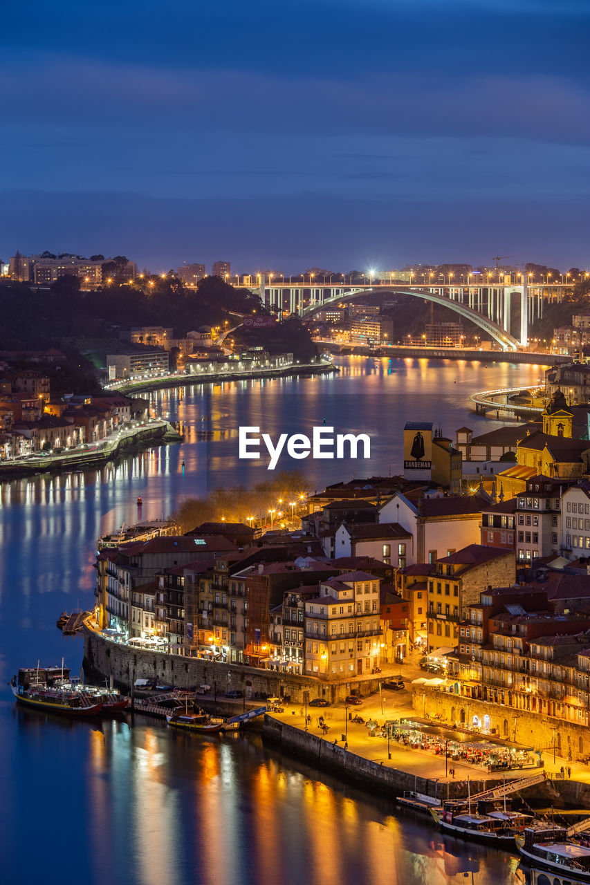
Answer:
<svg viewBox="0 0 590 885"><path fill-rule="evenodd" d="M407 420L454 439L497 422L468 412L470 393L535 383L540 366L340 358L340 372L170 389L152 407L182 428L182 444L101 471L42 476L0 488L0 681L19 666L74 672L82 642L55 627L90 608L97 535L173 512L184 496L268 477L239 461L237 428L311 435L314 426L371 437L368 461L279 462L307 490L398 473ZM182 469L184 460L184 470ZM17 710L0 689L0 859L9 883L128 885L299 882L431 885L515 880L516 858L441 837L396 810L264 749L254 737L198 738L145 721L90 724ZM7 874L7 877L4 875ZM456 878L455 878L456 876Z"/></svg>

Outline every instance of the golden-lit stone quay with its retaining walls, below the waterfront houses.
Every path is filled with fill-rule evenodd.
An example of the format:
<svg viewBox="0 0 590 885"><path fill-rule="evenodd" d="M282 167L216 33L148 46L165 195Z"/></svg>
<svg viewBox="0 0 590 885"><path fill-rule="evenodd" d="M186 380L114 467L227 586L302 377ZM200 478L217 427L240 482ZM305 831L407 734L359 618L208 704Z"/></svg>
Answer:
<svg viewBox="0 0 590 885"><path fill-rule="evenodd" d="M191 690L208 686L206 692L199 695L199 704L216 712L219 712L220 702L228 704L229 709L224 712L241 712L246 704L249 707L265 704L268 696L289 696L290 702L284 705L282 713L265 717L263 739L282 752L314 765L319 771L335 773L343 780L390 797L392 792L401 795L404 790L416 790L439 799L464 797L468 781L473 794L489 789L504 777L519 780L546 770L549 773L547 781L529 788L527 801L551 804L555 803L558 794L563 804L590 799L590 783L576 782L576 775L573 781L559 780L559 766L552 765L547 754L543 754L541 768L491 773L485 766L453 761L451 774L444 755L374 736L365 724L367 720L381 723L385 720L416 720L409 684L401 692L380 691L382 676L326 684L294 673L137 649L106 639L90 625L84 635L83 667L89 681L113 679L115 686L127 692L131 691L136 679L157 679L163 684ZM412 675L411 667L408 667L408 678ZM227 701L225 693L236 689L243 692L243 697L236 702ZM351 708L345 704L345 695L351 691L361 696L360 706ZM320 697L328 701L328 706L310 703ZM364 722L353 721L357 712L361 713ZM308 722L306 715L310 717ZM419 727L425 731L430 729L432 735L441 731L440 727L425 721ZM444 742L448 738L461 743L485 740L483 735L459 732L453 733L452 737L449 735L445 733L441 740ZM497 743L504 745L504 742ZM552 777L558 780L554 781Z"/></svg>

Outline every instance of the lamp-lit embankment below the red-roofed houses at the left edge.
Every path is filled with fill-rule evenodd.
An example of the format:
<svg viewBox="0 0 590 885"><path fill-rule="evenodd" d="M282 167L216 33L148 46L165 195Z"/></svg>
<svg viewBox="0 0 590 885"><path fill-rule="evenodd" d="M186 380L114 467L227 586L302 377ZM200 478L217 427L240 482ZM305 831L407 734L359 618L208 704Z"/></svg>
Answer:
<svg viewBox="0 0 590 885"><path fill-rule="evenodd" d="M180 443L182 436L167 421L149 419L144 426L132 427L113 435L96 450L74 450L64 455L39 455L35 458L3 461L0 463L0 481L34 476L35 473L58 473L71 470L94 470L128 450L149 448L151 445Z"/></svg>

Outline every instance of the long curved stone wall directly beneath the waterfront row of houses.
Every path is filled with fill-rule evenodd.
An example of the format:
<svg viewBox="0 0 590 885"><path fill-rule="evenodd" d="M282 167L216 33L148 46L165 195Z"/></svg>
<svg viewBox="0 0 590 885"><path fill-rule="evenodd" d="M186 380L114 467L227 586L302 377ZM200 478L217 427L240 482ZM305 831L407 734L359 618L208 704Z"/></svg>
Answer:
<svg viewBox="0 0 590 885"><path fill-rule="evenodd" d="M278 673L240 664L221 664L205 658L184 658L161 651L134 649L115 643L86 628L84 630L84 670L101 680L110 680L117 688L131 689L136 679L157 679L160 684L179 689L198 690L211 686L213 698L226 691L240 690L246 700L258 697L289 696L291 704L304 704L314 697L325 697L330 704L343 701L351 690L360 695L377 691L379 678L356 677L347 682L326 683L296 673Z"/></svg>

